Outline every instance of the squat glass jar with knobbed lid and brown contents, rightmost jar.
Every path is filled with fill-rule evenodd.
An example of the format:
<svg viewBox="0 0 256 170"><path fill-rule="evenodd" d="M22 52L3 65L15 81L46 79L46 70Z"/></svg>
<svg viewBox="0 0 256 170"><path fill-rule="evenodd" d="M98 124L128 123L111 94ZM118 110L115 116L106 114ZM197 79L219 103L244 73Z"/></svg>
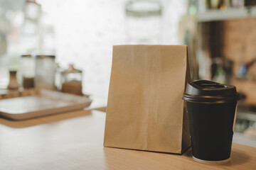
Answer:
<svg viewBox="0 0 256 170"><path fill-rule="evenodd" d="M82 96L82 71L75 69L73 64L61 72L61 81L63 93L75 94Z"/></svg>

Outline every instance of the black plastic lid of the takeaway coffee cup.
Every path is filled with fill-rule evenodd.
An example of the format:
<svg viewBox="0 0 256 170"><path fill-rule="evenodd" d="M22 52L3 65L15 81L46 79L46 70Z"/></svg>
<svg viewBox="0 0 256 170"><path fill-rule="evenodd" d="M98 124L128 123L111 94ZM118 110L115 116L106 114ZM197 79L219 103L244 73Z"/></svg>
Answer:
<svg viewBox="0 0 256 170"><path fill-rule="evenodd" d="M235 86L208 80L188 82L186 92L183 94L184 101L198 103L227 103L239 99Z"/></svg>

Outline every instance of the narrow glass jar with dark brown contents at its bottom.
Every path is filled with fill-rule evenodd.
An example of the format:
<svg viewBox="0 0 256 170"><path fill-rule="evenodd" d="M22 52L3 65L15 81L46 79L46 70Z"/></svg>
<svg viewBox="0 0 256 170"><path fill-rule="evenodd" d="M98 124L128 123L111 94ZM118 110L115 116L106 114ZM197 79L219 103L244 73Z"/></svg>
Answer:
<svg viewBox="0 0 256 170"><path fill-rule="evenodd" d="M34 88L35 59L31 55L21 55L21 77L24 89Z"/></svg>

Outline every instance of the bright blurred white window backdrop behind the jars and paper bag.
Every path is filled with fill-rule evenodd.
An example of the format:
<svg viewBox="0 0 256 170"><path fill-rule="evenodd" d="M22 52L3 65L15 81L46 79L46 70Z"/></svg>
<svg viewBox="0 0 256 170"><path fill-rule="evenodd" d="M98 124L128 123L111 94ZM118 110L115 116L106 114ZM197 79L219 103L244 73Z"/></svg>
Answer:
<svg viewBox="0 0 256 170"><path fill-rule="evenodd" d="M63 69L70 63L82 69L85 93L106 98L112 45L139 43L136 30L132 30L137 18L142 19L139 27L147 25L139 34L146 30L150 37L153 30L154 43L176 44L178 21L186 11L186 1L145 1L134 10L146 5L149 10L156 9L156 13L136 16L135 11L127 16L126 3L124 0L0 0L0 86L8 85L9 69L19 69L21 55L47 53L55 55L55 62ZM134 40L130 40L131 33L135 34Z"/></svg>

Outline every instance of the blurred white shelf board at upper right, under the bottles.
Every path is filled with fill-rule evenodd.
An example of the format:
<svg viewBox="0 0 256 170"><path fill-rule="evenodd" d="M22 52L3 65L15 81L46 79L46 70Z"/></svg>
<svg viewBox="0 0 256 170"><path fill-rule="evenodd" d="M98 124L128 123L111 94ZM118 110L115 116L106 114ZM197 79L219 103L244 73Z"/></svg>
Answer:
<svg viewBox="0 0 256 170"><path fill-rule="evenodd" d="M209 10L205 13L196 14L197 22L224 21L240 18L256 18L256 7L229 8L226 10Z"/></svg>

